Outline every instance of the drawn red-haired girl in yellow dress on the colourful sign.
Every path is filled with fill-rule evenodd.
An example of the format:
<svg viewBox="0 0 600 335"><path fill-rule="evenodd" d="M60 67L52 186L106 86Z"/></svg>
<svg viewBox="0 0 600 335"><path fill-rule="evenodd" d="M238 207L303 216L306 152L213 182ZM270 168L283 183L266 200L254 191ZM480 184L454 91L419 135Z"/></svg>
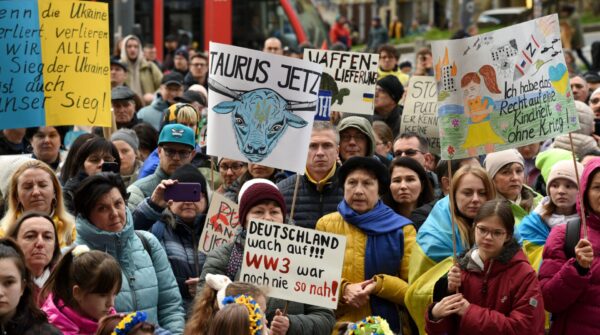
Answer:
<svg viewBox="0 0 600 335"><path fill-rule="evenodd" d="M463 91L465 115L469 118L463 148L469 156L477 155L477 148L480 146L485 146L485 152L489 153L494 151L494 144L504 144L504 140L492 129L490 114L494 111L494 100L482 95L481 79L490 93L501 93L496 82L496 71L490 65L484 65L478 72L469 72L462 77L460 87Z"/></svg>

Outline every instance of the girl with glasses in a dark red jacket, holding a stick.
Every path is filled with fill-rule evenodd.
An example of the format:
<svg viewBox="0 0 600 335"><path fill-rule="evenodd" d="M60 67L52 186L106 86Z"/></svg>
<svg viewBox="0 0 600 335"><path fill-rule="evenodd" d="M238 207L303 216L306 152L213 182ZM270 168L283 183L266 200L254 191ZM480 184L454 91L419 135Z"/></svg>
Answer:
<svg viewBox="0 0 600 335"><path fill-rule="evenodd" d="M513 238L509 203L486 202L473 226L476 246L436 283L425 330L428 334L544 334L540 285Z"/></svg>

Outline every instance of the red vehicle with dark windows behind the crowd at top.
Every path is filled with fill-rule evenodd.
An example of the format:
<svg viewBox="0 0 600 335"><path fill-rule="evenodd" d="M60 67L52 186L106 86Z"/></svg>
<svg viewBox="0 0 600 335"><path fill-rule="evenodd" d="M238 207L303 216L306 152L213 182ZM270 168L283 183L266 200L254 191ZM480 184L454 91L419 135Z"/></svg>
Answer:
<svg viewBox="0 0 600 335"><path fill-rule="evenodd" d="M270 36L287 46L327 43L327 28L310 0L148 0L134 6L136 34L156 46L159 59L168 34L202 50L209 41L261 49Z"/></svg>

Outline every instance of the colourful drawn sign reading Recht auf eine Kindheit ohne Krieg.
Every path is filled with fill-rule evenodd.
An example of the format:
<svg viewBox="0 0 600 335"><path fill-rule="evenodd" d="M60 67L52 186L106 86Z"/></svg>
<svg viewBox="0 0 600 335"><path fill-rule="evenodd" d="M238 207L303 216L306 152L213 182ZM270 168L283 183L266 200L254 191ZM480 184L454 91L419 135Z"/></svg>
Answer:
<svg viewBox="0 0 600 335"><path fill-rule="evenodd" d="M443 159L579 129L558 16L432 43Z"/></svg>

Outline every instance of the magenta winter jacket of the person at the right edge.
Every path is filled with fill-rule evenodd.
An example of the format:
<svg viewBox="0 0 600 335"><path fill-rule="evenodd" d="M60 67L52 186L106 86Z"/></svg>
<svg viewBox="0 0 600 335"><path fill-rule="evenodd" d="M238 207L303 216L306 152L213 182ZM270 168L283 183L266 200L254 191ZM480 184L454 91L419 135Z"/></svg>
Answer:
<svg viewBox="0 0 600 335"><path fill-rule="evenodd" d="M591 160L584 168L579 189L585 198L591 182L590 175L600 168L600 158ZM581 212L580 203L577 210ZM600 216L586 207L588 240L594 249L591 269L581 268L575 258L568 259L565 251L566 225L550 231L544 247L539 279L546 309L552 313L550 334L600 334L596 315L600 313ZM583 237L583 225L580 236Z"/></svg>

